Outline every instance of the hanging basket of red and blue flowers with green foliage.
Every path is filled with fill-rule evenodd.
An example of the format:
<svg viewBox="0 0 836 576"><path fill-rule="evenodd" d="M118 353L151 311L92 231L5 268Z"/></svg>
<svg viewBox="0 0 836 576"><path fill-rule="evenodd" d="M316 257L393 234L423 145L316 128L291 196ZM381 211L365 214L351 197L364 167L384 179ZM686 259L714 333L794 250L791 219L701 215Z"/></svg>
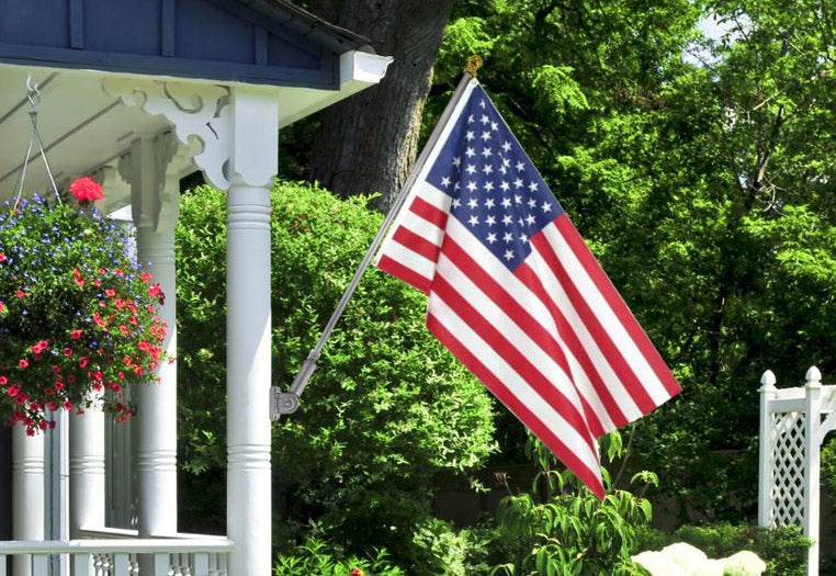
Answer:
<svg viewBox="0 0 836 576"><path fill-rule="evenodd" d="M70 191L80 208L38 196L0 208L0 418L29 434L93 398L125 421L125 387L155 381L165 360L159 284L129 231L91 207L101 187Z"/></svg>

